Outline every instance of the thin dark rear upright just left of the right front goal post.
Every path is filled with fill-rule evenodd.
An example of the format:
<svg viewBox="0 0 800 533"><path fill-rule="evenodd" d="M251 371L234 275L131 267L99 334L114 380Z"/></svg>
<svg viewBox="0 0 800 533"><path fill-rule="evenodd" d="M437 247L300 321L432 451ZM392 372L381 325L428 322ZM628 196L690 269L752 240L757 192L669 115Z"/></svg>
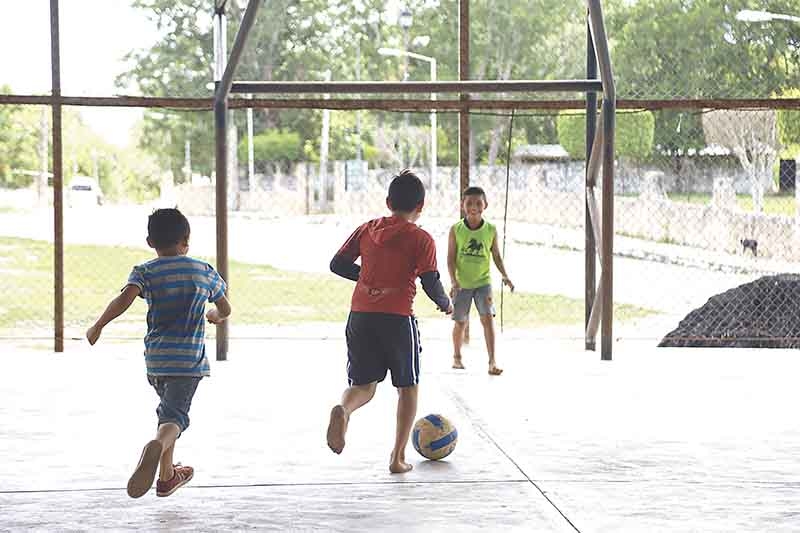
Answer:
<svg viewBox="0 0 800 533"><path fill-rule="evenodd" d="M586 79L597 78L597 57L594 52L594 42L592 40L591 29L588 24L586 25ZM592 153L592 145L594 143L595 130L597 129L597 93L586 93L586 187L589 186L589 159ZM584 190L586 191L586 187ZM585 220L584 227L586 236L584 240L584 309L585 309L585 323L584 331L589 326L589 318L592 315L592 305L594 305L595 298L595 284L597 283L597 261L595 260L595 247L597 243L594 238L594 231L592 230L592 218L589 214L589 201L593 201L588 197L588 191L585 194ZM595 339L586 338L585 349L595 350Z"/></svg>

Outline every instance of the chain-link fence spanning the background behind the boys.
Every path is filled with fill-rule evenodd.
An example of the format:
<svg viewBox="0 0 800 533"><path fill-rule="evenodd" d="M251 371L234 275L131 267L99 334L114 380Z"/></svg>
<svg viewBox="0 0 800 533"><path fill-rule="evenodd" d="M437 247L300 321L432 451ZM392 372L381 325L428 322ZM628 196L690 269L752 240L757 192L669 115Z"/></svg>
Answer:
<svg viewBox="0 0 800 533"><path fill-rule="evenodd" d="M412 4L421 14L433 13L423 2ZM497 11L475 2L473 17L487 8L488 18L473 18L474 77L584 75L584 51L575 45L585 38L582 3L568 6L574 13L561 13L565 16L553 28L573 37L569 46L545 32L517 43L531 47L529 59L498 44L509 13L524 7L510 4L507 11ZM800 25L741 21L737 13L746 6L733 3L723 10L713 10L710 1L689 7L629 4L609 2L606 7L619 97L625 104L617 116L615 160L615 334L661 341L686 318L666 343L732 339L793 346L800 337L794 331L800 310L791 297L796 280L785 274L796 272L800 254L795 196L800 111L784 102L796 98L791 88L800 86ZM791 8L773 4L762 7ZM440 22L427 28L434 44L415 41L411 34L405 42L395 23L380 18L365 22L358 39L328 35L326 46L338 46L337 53L346 59L330 61L333 73L327 75L426 80L429 64L404 61L396 53L417 47L439 55L439 79L454 79L455 5L443 2ZM553 5L543 2L541 7ZM109 74L109 83L132 87L129 94L209 96L210 26L190 17L201 8L187 6L145 6L152 27L172 20L186 31L180 36L156 32L157 44L131 50L131 67L116 77ZM289 7L280 20L267 20L262 13L257 24L280 23L281 32L295 32L295 37L321 24L308 22L302 5ZM370 9L362 13L367 19ZM661 20L670 31L649 31L648 17L656 14L666 17ZM66 22L64 39L75 35L78 19ZM196 25L205 29L195 35ZM437 40L436 32L450 37ZM690 42L682 40L684 34L691 35ZM318 53L290 57L286 43L269 37L268 32L254 37L245 51L242 77L324 78L325 61ZM175 67L169 50L191 52L195 41L193 59ZM764 48L767 42L774 44L772 52ZM298 38L291 43L295 49L302 44ZM498 54L509 55L484 65L488 60L480 51L493 43L500 47ZM67 46L65 56L76 50ZM560 50L562 61L543 56L546 50ZM698 50L705 51L702 57L696 57ZM508 70L501 68L503 61L511 61ZM104 94L75 80L67 84L73 94ZM2 93L41 93L46 86L32 78L25 85L30 89L11 84ZM505 263L517 287L501 298L495 278L498 319L507 334L582 339L585 113L576 110L580 102L542 110L525 107L521 103L513 117L510 111L471 113L470 183L486 190L485 216L500 230ZM352 285L331 274L328 263L358 224L386 214L388 183L403 167L417 171L427 187L420 224L436 240L448 285L447 233L460 210L458 115L389 108L230 111L232 337L338 335ZM50 107L4 104L0 117L0 265L13 287L0 305L0 335L45 339L53 335L54 300ZM145 236L146 216L153 208L180 207L192 224L190 253L214 263L214 128L208 110L163 104L133 110L65 107L63 127L65 325L66 336L78 338L124 284L130 268L152 256ZM98 133L103 127L119 138ZM428 334L449 333L449 323L421 293L416 312L428 322ZM108 335L140 337L144 313L144 305L137 303L109 327Z"/></svg>

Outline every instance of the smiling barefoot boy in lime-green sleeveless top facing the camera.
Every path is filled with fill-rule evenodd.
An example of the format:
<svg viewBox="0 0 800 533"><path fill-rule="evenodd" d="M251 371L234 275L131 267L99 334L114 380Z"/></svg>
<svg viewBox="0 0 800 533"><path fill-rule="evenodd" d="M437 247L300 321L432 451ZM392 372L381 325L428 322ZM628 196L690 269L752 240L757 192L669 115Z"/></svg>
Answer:
<svg viewBox="0 0 800 533"><path fill-rule="evenodd" d="M483 211L488 205L483 189L467 188L462 195L462 208L466 217L450 228L447 270L450 272L453 298L453 368L464 368L461 362L461 346L464 343L469 310L474 301L489 353L489 374L499 376L503 370L498 368L495 360L495 310L492 302L490 254L503 276L503 284L512 291L514 284L508 278L500 256L497 229L483 219Z"/></svg>

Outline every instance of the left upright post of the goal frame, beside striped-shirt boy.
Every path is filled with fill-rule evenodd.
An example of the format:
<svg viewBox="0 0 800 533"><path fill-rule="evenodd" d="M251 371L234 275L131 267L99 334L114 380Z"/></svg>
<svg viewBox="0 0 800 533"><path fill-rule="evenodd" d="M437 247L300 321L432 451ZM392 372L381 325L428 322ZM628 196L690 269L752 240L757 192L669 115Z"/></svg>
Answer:
<svg viewBox="0 0 800 533"><path fill-rule="evenodd" d="M224 7L223 7L224 9ZM227 35L225 13L214 13L214 79L219 91L225 60L227 58ZM216 172L216 223L217 223L217 271L226 283L228 275L228 99L214 99L214 163ZM217 325L217 361L228 359L228 321Z"/></svg>

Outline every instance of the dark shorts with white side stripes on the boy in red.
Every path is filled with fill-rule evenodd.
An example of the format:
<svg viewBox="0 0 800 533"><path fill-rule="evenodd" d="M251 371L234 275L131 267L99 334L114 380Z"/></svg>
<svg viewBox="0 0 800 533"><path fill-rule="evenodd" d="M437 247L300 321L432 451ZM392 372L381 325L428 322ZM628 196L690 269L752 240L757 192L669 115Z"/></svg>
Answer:
<svg viewBox="0 0 800 533"><path fill-rule="evenodd" d="M347 318L347 379L350 385L383 381L392 371L392 385L419 383L417 319L413 316L351 311Z"/></svg>

